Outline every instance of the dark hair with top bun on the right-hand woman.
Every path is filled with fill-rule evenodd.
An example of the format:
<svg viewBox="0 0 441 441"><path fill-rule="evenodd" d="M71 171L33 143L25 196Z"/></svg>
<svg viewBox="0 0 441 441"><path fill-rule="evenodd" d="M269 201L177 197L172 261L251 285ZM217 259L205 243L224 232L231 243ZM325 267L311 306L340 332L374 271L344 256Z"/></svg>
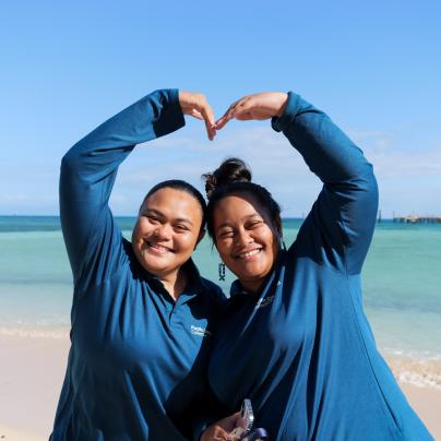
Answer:
<svg viewBox="0 0 441 441"><path fill-rule="evenodd" d="M251 169L243 160L236 157L225 159L213 172L202 175L202 179L205 180L206 196L208 198L206 227L214 241L213 213L216 203L221 199L235 193L252 194L270 215L273 226L282 237L281 206L264 187L251 182Z"/></svg>

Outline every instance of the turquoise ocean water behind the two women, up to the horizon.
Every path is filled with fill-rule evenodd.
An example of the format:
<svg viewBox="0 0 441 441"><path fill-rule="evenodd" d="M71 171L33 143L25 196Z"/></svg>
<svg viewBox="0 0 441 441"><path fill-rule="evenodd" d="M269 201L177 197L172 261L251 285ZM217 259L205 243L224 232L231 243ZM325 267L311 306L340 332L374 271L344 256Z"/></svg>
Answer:
<svg viewBox="0 0 441 441"><path fill-rule="evenodd" d="M117 217L130 238L135 219ZM300 219L284 221L289 246ZM218 281L205 238L194 260ZM233 275L217 282L226 293ZM377 344L403 382L441 389L441 224L377 224L362 273ZM57 216L0 216L0 333L60 338L69 333L72 277Z"/></svg>

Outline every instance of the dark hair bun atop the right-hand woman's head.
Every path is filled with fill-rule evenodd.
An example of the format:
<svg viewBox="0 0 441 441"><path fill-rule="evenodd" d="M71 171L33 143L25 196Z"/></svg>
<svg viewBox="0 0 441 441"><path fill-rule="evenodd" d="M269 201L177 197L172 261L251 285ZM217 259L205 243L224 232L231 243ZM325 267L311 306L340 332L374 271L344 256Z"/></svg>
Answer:
<svg viewBox="0 0 441 441"><path fill-rule="evenodd" d="M251 182L252 175L243 160L230 157L225 159L213 172L202 175L202 178L205 179L205 192L210 199L219 187L233 182Z"/></svg>

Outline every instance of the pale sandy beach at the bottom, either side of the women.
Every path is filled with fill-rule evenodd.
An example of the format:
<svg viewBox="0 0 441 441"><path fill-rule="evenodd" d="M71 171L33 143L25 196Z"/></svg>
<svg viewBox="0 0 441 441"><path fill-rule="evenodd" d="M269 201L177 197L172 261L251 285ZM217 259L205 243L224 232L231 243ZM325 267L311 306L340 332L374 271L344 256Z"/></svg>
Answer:
<svg viewBox="0 0 441 441"><path fill-rule="evenodd" d="M0 334L0 441L49 438L69 339ZM420 418L441 439L441 390L402 384Z"/></svg>

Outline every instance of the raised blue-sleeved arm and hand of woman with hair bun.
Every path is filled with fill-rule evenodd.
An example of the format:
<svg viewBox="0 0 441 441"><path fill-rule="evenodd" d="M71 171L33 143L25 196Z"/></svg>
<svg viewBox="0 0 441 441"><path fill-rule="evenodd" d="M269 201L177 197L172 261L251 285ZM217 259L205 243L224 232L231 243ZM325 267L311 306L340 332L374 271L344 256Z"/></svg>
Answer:
<svg viewBox="0 0 441 441"><path fill-rule="evenodd" d="M374 228L378 189L372 166L362 152L322 111L294 93L262 93L234 103L217 121L269 119L323 182L297 243L313 259L338 271L361 270Z"/></svg>

